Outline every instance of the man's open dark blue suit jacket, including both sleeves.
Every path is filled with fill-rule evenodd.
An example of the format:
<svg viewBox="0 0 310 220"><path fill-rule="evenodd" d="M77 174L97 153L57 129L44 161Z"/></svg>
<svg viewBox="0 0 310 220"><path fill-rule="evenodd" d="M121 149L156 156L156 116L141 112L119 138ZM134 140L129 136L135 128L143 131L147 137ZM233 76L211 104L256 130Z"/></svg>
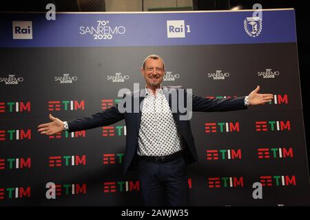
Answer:
<svg viewBox="0 0 310 220"><path fill-rule="evenodd" d="M245 97L238 98L203 98L200 96L189 95L182 89L180 86L169 86L163 87L163 93L165 94L169 107L172 109L172 104L177 99L177 102L181 103L181 106L187 106L187 99L180 98L180 96L192 98L192 111L234 111L240 109L247 109L245 106ZM173 96L172 94L176 94ZM181 95L180 95L181 94ZM141 89L139 91L134 91L132 93L128 93L124 96L123 100L118 103L118 105L122 105L123 107L128 107L128 100L131 100L132 103L141 103L143 104L143 99L145 97L145 89ZM127 100L127 101L126 101ZM134 112L134 104L132 104L129 109L131 111L125 111L124 109L118 108L118 105L111 107L110 109L106 109L105 111L95 113L87 118L80 118L68 122L69 131L82 131L86 129L93 129L99 126L107 126L110 124L114 124L125 119L127 136L126 136L126 149L125 149L125 163L124 163L124 173L127 170L135 170L136 168L136 151L138 148L138 131L140 128L141 122L141 111ZM185 151L183 153L183 157L187 164L192 164L193 162L198 162L198 156L196 153L196 147L194 144L194 137L192 134L191 125L189 120L180 120L181 115L185 115L182 109L179 109L177 105L176 111L172 112L174 120L178 126L178 130L180 131L183 147ZM141 108L142 109L142 108ZM121 111L121 112L120 112Z"/></svg>

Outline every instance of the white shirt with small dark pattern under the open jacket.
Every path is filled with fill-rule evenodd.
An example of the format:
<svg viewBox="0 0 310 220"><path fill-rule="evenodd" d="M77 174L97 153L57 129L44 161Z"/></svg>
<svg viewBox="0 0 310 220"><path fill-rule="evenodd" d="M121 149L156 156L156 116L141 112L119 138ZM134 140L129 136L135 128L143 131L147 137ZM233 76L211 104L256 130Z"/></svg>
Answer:
<svg viewBox="0 0 310 220"><path fill-rule="evenodd" d="M138 155L165 156L182 150L181 136L163 89L156 96L145 88L138 133Z"/></svg>

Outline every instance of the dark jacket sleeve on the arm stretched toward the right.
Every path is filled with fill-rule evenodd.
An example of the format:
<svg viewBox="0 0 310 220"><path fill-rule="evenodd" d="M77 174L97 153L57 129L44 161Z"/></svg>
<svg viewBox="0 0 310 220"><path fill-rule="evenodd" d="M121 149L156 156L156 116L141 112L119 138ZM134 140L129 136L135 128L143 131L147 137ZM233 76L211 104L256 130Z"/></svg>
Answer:
<svg viewBox="0 0 310 220"><path fill-rule="evenodd" d="M204 98L192 95L193 111L234 111L247 109L245 96L238 98Z"/></svg>

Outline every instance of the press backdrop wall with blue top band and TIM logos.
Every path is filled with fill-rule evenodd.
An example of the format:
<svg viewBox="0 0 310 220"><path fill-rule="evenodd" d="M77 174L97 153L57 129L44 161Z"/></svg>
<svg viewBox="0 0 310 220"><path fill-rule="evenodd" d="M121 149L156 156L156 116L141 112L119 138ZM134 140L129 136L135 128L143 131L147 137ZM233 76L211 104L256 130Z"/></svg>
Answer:
<svg viewBox="0 0 310 220"><path fill-rule="evenodd" d="M165 61L163 85L209 98L257 85L274 94L247 110L194 113L192 206L310 204L294 10L0 17L0 206L143 204L136 173L123 174L124 121L50 137L37 126L49 113L69 121L104 111L119 89L145 87L149 54ZM56 199L46 197L50 182Z"/></svg>

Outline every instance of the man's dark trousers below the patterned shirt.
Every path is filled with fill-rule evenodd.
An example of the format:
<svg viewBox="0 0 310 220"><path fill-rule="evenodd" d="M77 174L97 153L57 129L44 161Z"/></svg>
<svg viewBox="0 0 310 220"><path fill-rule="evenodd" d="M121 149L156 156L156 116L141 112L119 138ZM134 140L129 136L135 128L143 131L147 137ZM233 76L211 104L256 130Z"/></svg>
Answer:
<svg viewBox="0 0 310 220"><path fill-rule="evenodd" d="M165 163L139 160L138 176L145 206L188 206L187 165L182 156Z"/></svg>

